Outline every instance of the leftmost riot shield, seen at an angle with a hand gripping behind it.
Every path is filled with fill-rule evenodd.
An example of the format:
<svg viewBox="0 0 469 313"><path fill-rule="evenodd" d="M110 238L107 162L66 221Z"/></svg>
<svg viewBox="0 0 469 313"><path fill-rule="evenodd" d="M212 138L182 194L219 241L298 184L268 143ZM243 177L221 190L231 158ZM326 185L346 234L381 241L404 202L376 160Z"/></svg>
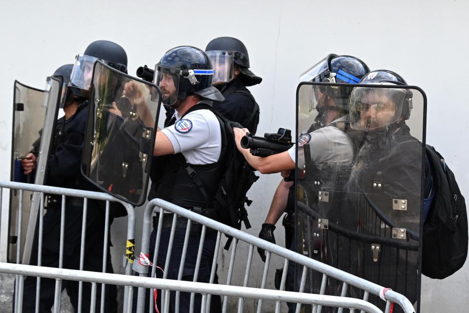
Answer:
<svg viewBox="0 0 469 313"><path fill-rule="evenodd" d="M11 170L11 179L13 181L44 184L47 173L47 159L50 154L51 142L53 142L61 94L62 79L58 77L47 77L45 90L32 89L15 82ZM28 153L37 156L37 164L31 174L24 175L21 169L21 159ZM21 263L29 264L39 212L40 195L36 192L23 192L23 218L20 224L21 233L26 235L23 237L24 242L21 243L16 241L18 231L16 213L20 202L19 197L20 193L18 191L11 191L10 211L12 215L15 215L15 221L11 220L10 223L10 238L15 239L12 243L21 244L23 247ZM12 247L13 245L10 246L10 249ZM10 255L14 255L13 249L11 251Z"/></svg>

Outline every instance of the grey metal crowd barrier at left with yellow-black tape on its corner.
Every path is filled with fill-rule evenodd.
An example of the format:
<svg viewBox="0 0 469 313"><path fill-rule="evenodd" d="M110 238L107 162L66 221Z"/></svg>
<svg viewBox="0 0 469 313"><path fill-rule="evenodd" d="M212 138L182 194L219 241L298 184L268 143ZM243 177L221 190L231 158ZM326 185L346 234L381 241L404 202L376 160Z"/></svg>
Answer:
<svg viewBox="0 0 469 313"><path fill-rule="evenodd" d="M63 267L63 258L64 258L64 216L66 214L65 210L65 203L66 197L75 197L75 198L83 198L83 220L82 220L82 233L81 233L81 244L80 244L80 270L83 269L84 266L84 250L85 250L85 238L86 238L86 212L87 212L87 201L88 200L99 200L99 201L106 201L106 217L105 217L105 232L104 232L104 247L103 247L103 272L106 272L107 267L107 243L108 243L108 234L109 234L109 202L120 202L127 210L128 214L128 227L127 227L127 242L134 243L135 240L135 212L132 205L125 203L123 201L117 200L116 198L100 192L93 192L93 191L84 191L84 190L75 190L75 189L67 189L67 188L59 188L59 187L50 187L50 186L41 186L41 185L34 185L34 184L26 184L20 182L11 182L11 181L0 181L0 203L1 203L1 195L3 189L12 189L12 190L19 190L20 192L20 202L18 207L18 231L17 231L17 251L16 251L16 262L17 265L13 268L22 268L19 266L21 260L21 218L22 218L22 193L23 191L32 191L32 192L39 192L40 193L40 212L39 212L39 231L38 231L38 266L32 267L35 268L38 272L44 271L41 267L41 259L42 259L42 246L43 246L43 214L44 214L44 194L53 194L59 195L62 197L62 207L61 207L61 227L60 227L60 250L59 250L59 268ZM9 234L8 234L9 235ZM132 247L129 247L131 251ZM127 252L127 251L126 251ZM131 253L133 254L133 253ZM129 261L130 260L130 261ZM126 268L125 273L126 275L132 274L132 264L133 262L133 255L126 253L124 256L124 266ZM3 263L4 268L8 268L12 266L12 264ZM31 267L29 267L31 268ZM48 268L51 273L57 272ZM60 271L60 270L59 270ZM5 271L7 272L7 271ZM89 275L96 275L96 272L88 272ZM22 275L25 275L26 272L18 271L16 272L16 280L15 280L15 303L22 302L22 284L23 279ZM22 274L22 275L21 275ZM34 276L34 275L33 275ZM68 277L63 276L64 278L60 278L58 276L53 275L37 275L39 278L37 279L36 285L36 312L39 311L39 302L40 302L40 277L49 277L49 278L56 278L55 283L55 299L54 299L54 310L53 312L60 312L60 298L61 298L61 279L68 279ZM96 284L93 285L93 295L91 296L92 299L96 299ZM128 294L131 294L131 288L126 287L124 291L124 305L128 302ZM105 284L101 286L101 312L104 311L104 301L105 298ZM131 298L131 296L130 296ZM81 312L82 307L82 299L83 299L83 282L79 283L79 291L78 291L78 313ZM130 301L131 302L131 301ZM93 306L94 307L94 306ZM14 310L15 313L20 313L21 310L18 310L17 307Z"/></svg>

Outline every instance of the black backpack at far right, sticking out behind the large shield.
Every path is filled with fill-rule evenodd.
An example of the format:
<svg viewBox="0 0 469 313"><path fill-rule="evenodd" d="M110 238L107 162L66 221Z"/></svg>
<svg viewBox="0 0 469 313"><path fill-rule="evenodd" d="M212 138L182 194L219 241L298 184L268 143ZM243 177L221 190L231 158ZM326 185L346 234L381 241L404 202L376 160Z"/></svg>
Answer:
<svg viewBox="0 0 469 313"><path fill-rule="evenodd" d="M453 172L435 148L426 145L435 196L426 216L422 241L422 274L443 279L466 262L468 217L466 202Z"/></svg>

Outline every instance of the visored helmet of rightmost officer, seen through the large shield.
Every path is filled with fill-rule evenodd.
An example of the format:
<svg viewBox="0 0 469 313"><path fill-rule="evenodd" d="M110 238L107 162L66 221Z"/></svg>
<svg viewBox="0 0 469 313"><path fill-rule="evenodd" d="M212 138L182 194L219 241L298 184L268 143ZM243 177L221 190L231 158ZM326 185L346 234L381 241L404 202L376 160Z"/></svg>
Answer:
<svg viewBox="0 0 469 313"><path fill-rule="evenodd" d="M412 91L399 74L375 70L365 75L360 84L391 85L388 88L355 87L350 95L350 124L353 129L375 133L386 132L410 117Z"/></svg>

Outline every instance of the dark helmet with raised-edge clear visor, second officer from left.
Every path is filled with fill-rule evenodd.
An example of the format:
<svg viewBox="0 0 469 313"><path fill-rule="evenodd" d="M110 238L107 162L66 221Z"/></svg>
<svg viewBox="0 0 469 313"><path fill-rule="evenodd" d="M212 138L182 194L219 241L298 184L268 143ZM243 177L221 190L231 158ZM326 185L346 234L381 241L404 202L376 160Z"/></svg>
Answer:
<svg viewBox="0 0 469 313"><path fill-rule="evenodd" d="M87 97L91 88L93 66L98 60L127 73L127 53L123 47L107 40L92 42L86 47L84 54L78 54L75 58L70 81L70 89L74 94Z"/></svg>

